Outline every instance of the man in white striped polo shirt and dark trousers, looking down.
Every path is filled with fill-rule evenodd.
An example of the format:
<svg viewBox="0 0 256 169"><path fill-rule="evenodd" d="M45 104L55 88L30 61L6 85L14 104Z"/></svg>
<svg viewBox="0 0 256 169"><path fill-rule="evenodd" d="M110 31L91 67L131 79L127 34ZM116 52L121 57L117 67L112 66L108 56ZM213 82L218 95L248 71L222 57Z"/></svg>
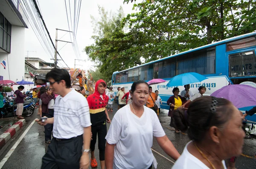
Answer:
<svg viewBox="0 0 256 169"><path fill-rule="evenodd" d="M42 158L41 169L88 169L91 122L87 100L70 89L67 70L53 68L46 78L59 96L54 117L45 122L36 120L40 125L53 124L53 138Z"/></svg>

